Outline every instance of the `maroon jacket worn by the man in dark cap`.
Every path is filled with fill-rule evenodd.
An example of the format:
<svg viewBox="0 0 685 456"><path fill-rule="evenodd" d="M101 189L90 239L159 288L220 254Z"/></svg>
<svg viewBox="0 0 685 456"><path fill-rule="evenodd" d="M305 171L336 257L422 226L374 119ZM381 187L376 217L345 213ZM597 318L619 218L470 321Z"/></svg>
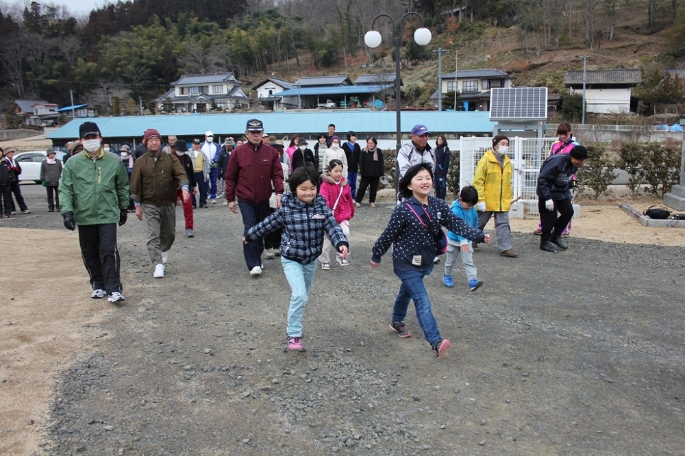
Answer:
<svg viewBox="0 0 685 456"><path fill-rule="evenodd" d="M228 161L225 174L226 201L266 203L273 192L283 194L283 168L278 152L273 147L249 142L238 146Z"/></svg>

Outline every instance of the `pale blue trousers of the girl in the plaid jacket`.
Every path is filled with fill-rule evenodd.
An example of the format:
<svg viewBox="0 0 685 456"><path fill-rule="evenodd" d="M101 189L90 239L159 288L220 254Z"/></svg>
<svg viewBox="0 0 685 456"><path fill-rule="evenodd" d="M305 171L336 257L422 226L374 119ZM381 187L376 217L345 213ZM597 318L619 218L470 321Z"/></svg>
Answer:
<svg viewBox="0 0 685 456"><path fill-rule="evenodd" d="M301 264L281 257L283 273L290 284L290 307L288 308L288 327L286 332L291 338L302 337L302 316L309 300L309 290L316 272L316 261Z"/></svg>

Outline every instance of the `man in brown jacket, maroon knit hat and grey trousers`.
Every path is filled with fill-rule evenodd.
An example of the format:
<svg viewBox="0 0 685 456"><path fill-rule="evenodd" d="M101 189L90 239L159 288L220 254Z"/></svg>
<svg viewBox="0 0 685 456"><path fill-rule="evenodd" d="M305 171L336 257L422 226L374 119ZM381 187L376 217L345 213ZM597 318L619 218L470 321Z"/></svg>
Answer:
<svg viewBox="0 0 685 456"><path fill-rule="evenodd" d="M164 277L167 251L176 238L176 189L184 201L190 199L188 177L181 162L169 153L162 153L162 136L155 129L145 130L142 143L147 147L133 164L131 198L136 205L136 217L145 215L147 251L155 265L154 277Z"/></svg>

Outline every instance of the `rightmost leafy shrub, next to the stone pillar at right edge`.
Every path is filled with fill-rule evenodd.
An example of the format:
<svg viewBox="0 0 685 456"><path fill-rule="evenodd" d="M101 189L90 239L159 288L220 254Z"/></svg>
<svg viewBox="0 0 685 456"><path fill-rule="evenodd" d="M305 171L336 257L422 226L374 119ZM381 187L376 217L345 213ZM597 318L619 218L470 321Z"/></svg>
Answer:
<svg viewBox="0 0 685 456"><path fill-rule="evenodd" d="M645 146L645 162L643 175L645 183L649 184L649 192L656 197L663 198L671 191L673 185L680 181L681 151L673 147L662 147L656 142Z"/></svg>

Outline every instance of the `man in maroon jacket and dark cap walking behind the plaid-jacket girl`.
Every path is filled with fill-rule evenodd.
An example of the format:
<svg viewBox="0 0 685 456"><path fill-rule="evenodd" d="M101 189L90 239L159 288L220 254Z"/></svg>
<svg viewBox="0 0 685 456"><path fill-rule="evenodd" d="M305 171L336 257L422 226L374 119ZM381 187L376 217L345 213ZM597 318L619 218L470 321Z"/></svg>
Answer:
<svg viewBox="0 0 685 456"><path fill-rule="evenodd" d="M247 142L238 146L228 161L226 168L226 201L228 208L238 213L236 197L242 214L242 225L247 231L271 214L269 198L271 184L276 194L276 207L281 205L283 194L283 168L278 152L269 144L262 142L264 124L253 118L247 121L245 129ZM242 253L250 275L262 274L263 239L242 244Z"/></svg>

